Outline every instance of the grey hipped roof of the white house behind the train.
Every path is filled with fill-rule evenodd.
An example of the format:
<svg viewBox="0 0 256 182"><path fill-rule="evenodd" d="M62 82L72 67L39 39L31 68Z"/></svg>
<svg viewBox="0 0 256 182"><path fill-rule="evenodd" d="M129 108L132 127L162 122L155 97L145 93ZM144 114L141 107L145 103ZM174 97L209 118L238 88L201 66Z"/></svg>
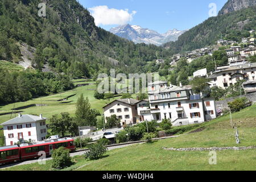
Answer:
<svg viewBox="0 0 256 182"><path fill-rule="evenodd" d="M31 122L36 122L36 121L41 121L47 118L41 118L39 116L36 115L29 115L29 114L25 114L25 115L21 115L10 119L9 121L6 121L4 123L2 123L1 125L14 125L14 124L22 124L22 123L31 123Z"/></svg>

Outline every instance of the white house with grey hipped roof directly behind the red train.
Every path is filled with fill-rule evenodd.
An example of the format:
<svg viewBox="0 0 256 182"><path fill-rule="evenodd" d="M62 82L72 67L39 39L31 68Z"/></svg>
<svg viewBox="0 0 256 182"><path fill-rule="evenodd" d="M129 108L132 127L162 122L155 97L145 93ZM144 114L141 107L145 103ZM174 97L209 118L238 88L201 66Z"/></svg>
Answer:
<svg viewBox="0 0 256 182"><path fill-rule="evenodd" d="M39 117L19 114L18 117L2 123L6 145L12 146L17 142L38 142L46 139L46 119L42 114Z"/></svg>

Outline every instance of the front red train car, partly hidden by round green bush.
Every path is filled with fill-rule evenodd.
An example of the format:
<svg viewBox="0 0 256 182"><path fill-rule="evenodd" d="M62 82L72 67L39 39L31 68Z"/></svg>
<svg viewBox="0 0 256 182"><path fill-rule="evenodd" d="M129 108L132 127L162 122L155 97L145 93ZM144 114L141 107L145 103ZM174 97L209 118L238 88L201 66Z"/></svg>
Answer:
<svg viewBox="0 0 256 182"><path fill-rule="evenodd" d="M44 140L37 143L26 143L20 145L20 158L22 160L40 157L40 151L46 152L46 156L52 155L53 150L59 147L68 148L71 152L76 150L74 140L72 138L62 138L54 140Z"/></svg>

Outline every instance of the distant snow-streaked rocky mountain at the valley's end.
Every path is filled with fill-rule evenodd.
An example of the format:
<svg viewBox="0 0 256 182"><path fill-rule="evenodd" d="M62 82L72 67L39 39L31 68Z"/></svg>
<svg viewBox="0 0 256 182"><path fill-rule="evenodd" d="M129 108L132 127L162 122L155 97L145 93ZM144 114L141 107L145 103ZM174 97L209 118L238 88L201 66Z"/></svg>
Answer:
<svg viewBox="0 0 256 182"><path fill-rule="evenodd" d="M111 28L110 32L122 38L131 40L134 43L155 44L156 46L160 46L161 44L177 40L177 38L185 31L174 29L169 30L165 34L159 34L158 32L148 28L124 24L122 26Z"/></svg>

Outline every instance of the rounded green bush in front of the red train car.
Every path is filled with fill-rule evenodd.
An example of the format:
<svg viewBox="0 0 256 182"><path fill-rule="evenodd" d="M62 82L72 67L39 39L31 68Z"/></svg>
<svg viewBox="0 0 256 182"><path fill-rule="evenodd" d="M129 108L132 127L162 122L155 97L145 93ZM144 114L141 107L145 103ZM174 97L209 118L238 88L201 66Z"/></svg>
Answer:
<svg viewBox="0 0 256 182"><path fill-rule="evenodd" d="M71 157L69 156L69 150L60 147L52 152L52 168L63 169L71 166Z"/></svg>

